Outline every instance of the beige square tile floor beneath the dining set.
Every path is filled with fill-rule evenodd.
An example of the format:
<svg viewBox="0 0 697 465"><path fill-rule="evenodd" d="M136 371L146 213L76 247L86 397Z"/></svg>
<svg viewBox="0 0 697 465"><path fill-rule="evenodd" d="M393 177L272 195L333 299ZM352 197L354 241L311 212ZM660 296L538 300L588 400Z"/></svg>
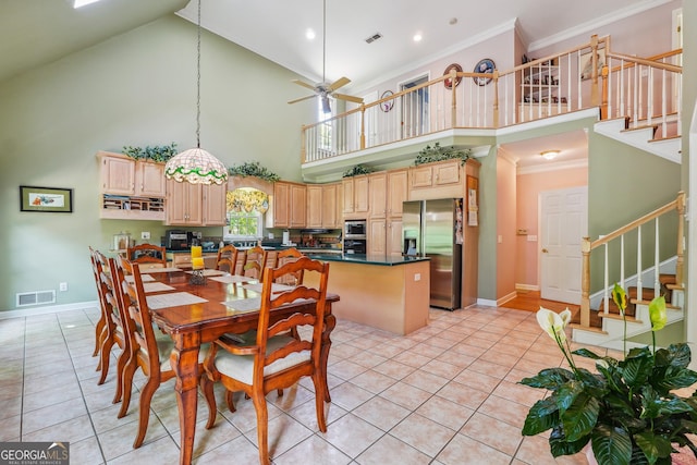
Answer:
<svg viewBox="0 0 697 465"><path fill-rule="evenodd" d="M543 392L517 381L562 364L535 314L510 308L431 309L407 336L339 321L332 333L328 431L318 431L311 382L269 394L269 449L277 465L585 464L550 455L524 438L527 409ZM145 443L132 449L137 391L129 414L111 403L114 366L97 386L96 309L0 320L0 441L70 441L71 464L174 464L179 417L173 381L155 395ZM115 352L114 352L115 354ZM115 359L115 358L114 358ZM136 380L136 389L143 378ZM256 416L218 394L215 428L199 402L197 464L256 464Z"/></svg>

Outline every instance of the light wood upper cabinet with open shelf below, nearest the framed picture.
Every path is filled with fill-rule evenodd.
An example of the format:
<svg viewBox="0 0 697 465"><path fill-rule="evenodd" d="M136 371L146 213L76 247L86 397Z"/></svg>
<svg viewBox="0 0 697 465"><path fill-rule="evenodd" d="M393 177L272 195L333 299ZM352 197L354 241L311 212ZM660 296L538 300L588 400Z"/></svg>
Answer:
<svg viewBox="0 0 697 465"><path fill-rule="evenodd" d="M100 218L164 220L164 164L121 154L97 154L101 180Z"/></svg>

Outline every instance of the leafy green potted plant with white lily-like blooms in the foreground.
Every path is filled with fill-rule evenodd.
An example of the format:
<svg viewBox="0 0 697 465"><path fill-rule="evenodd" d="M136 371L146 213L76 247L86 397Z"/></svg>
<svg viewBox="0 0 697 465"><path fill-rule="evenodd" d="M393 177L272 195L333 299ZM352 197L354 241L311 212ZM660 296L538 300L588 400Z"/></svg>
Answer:
<svg viewBox="0 0 697 465"><path fill-rule="evenodd" d="M626 294L615 284L612 297L623 319ZM697 382L697 372L687 368L687 344L656 350L656 331L665 326L665 299L649 305L653 347L625 348L624 359L601 357L587 348L572 351L564 328L568 309L561 314L540 308L537 320L557 342L568 368L548 368L519 381L546 389L550 395L530 407L523 426L524 436L551 429L553 456L571 455L588 443L600 465L671 464L673 444L687 445L695 456L697 446L686 437L697 432L697 392L681 397L673 390ZM626 319L625 319L626 323ZM624 332L626 347L626 326ZM574 355L596 362L598 372L576 366Z"/></svg>

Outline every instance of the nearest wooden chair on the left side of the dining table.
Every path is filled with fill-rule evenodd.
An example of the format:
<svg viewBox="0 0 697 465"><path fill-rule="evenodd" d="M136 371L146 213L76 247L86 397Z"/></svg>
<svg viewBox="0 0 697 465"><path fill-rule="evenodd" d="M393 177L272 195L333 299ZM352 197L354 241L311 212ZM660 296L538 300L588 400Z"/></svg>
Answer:
<svg viewBox="0 0 697 465"><path fill-rule="evenodd" d="M135 371L140 368L146 377L145 384L140 388L138 402L138 432L133 448L143 444L150 418L150 401L161 383L175 378L176 374L171 368L170 355L174 343L169 334L154 327L150 310L148 308L139 264L126 260L118 256L115 259L115 276L121 290L121 298L127 308L126 331L132 335L133 351L123 369L123 403L119 417L126 414L131 402L131 391ZM131 277L131 278L129 278ZM201 345L199 360L203 363L208 344ZM199 364L199 372L203 365Z"/></svg>

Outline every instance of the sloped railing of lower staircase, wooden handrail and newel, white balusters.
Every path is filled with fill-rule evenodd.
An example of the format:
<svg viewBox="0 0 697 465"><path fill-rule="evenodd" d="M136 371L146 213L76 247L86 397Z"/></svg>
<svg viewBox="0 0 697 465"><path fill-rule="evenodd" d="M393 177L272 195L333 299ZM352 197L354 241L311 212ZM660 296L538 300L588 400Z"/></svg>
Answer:
<svg viewBox="0 0 697 465"><path fill-rule="evenodd" d="M608 245L615 240L620 241L620 279L616 282L624 287L625 284L625 245L624 240L627 233L635 231L637 232L637 298L641 298L644 295L643 287L643 259L641 259L641 249L643 249L643 237L641 237L641 227L651 221L655 222L655 258L653 258L653 269L655 269L655 280L653 280L653 295L657 296L660 294L660 257L659 257L659 244L660 244L660 225L659 220L667 213L671 211L677 212L677 238L676 238L676 262L675 262L675 282L678 285L683 285L684 282L684 228L685 228L685 193L678 192L675 200L651 211L648 215L645 215L641 218L638 218L622 228L611 232L610 234L603 235L596 241L590 241L589 237L584 237L582 240L582 284L580 284L580 327L590 327L590 253L599 247L603 247L603 295L602 298L604 301L604 313L609 311L609 299L610 299L610 286L614 283L614 281L610 281L610 258L608 252Z"/></svg>

